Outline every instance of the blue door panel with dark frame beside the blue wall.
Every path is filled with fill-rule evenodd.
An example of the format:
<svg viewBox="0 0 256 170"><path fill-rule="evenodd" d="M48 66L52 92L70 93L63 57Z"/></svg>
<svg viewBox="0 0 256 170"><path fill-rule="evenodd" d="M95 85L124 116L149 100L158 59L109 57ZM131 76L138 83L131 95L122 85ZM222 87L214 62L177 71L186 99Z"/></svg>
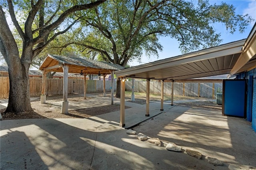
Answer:
<svg viewBox="0 0 256 170"><path fill-rule="evenodd" d="M246 117L246 80L223 80L222 115Z"/></svg>

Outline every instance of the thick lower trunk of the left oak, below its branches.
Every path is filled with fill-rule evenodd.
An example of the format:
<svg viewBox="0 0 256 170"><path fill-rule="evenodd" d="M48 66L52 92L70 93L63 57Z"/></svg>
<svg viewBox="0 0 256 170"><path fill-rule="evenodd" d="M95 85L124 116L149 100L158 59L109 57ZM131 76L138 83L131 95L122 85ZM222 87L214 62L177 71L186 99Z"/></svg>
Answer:
<svg viewBox="0 0 256 170"><path fill-rule="evenodd" d="M20 67L8 67L10 91L8 106L4 113L33 111L30 104L29 66L26 67L21 63L18 65Z"/></svg>

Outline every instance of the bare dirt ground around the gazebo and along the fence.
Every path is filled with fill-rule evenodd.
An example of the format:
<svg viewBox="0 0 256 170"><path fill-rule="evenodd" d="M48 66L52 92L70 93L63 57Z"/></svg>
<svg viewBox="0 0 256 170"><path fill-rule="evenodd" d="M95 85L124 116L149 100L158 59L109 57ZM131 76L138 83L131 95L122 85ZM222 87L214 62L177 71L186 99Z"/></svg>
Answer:
<svg viewBox="0 0 256 170"><path fill-rule="evenodd" d="M131 96L130 92L126 93L126 96ZM97 95L102 95L102 93L97 93ZM110 97L110 94L107 94L107 97ZM126 99L130 99L126 97ZM175 100L186 100L186 99L198 99L198 97L183 97L183 96L175 96ZM68 95L68 101L83 101L83 97L79 95ZM164 97L165 101L170 101L170 97ZM62 95L54 95L47 96L47 101L50 103L60 102L62 101ZM150 101L160 101L160 95L150 95ZM138 103L140 105L146 104L146 94L145 93L135 93L135 101L134 103ZM215 109L221 110L221 105L216 105L215 102L211 101L200 101L200 102L187 102L187 103L176 103L176 105L180 106L189 106L193 108L206 108L206 109ZM107 105L102 107L92 107L85 109L78 109L69 111L67 114L60 113L59 109L50 110L48 109L48 105L40 104L40 96L38 99L31 101L31 106L34 111L32 112L24 112L24 113L6 113L4 114L5 109L0 110L2 114L2 120L8 119L57 119L57 118L88 118L92 116L102 115L105 113L110 113L114 111L120 110L120 105ZM126 107L126 109L129 107Z"/></svg>

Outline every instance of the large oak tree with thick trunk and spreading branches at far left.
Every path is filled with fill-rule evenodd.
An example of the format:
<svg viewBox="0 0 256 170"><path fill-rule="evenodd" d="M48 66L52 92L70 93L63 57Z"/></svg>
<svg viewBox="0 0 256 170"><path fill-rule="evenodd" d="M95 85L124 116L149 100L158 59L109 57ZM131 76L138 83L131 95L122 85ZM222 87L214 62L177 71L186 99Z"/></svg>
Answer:
<svg viewBox="0 0 256 170"><path fill-rule="evenodd" d="M5 112L32 111L28 69L36 57L58 35L67 32L80 18L76 12L88 12L104 1L24 0L0 2L0 51L8 65L9 101ZM22 49L6 21L5 12L22 39Z"/></svg>

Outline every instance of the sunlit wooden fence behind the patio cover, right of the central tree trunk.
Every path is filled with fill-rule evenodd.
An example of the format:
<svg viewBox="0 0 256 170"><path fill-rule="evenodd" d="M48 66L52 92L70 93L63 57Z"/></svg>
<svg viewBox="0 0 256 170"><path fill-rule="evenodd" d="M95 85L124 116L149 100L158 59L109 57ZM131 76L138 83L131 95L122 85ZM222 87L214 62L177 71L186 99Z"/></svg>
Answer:
<svg viewBox="0 0 256 170"><path fill-rule="evenodd" d="M171 95L172 83L164 82L164 94ZM132 91L132 82L127 81L126 91ZM199 89L199 90L198 90ZM146 93L146 81L134 81L134 91ZM222 92L222 83L174 83L174 95L215 98ZM150 81L150 93L161 94L161 82Z"/></svg>

